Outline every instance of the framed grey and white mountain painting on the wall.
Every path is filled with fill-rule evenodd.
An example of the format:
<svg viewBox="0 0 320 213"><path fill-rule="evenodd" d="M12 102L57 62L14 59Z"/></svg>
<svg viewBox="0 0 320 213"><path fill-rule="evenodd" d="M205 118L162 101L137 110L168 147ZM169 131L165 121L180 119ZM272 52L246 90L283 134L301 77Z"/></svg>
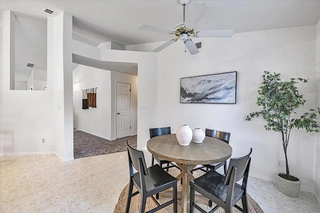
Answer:
<svg viewBox="0 0 320 213"><path fill-rule="evenodd" d="M235 103L236 71L183 77L180 103Z"/></svg>

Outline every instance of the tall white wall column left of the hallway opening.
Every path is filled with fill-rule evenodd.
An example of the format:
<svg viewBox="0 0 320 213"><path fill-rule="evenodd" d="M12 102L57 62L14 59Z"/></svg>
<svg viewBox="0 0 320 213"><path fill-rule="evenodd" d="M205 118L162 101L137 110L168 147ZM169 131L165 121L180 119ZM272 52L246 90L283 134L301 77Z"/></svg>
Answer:
<svg viewBox="0 0 320 213"><path fill-rule="evenodd" d="M53 117L54 153L73 159L72 15L48 17L47 87Z"/></svg>

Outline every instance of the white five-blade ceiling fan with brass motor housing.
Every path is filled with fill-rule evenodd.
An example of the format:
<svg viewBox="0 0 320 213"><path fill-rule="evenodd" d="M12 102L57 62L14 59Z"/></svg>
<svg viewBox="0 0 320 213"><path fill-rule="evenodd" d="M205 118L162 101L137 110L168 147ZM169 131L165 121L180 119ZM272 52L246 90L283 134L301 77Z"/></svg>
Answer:
<svg viewBox="0 0 320 213"><path fill-rule="evenodd" d="M150 25L141 24L139 29L142 30L149 30L149 31L157 31L157 32L165 32L169 34L174 34L176 37L172 38L162 45L158 46L157 48L153 49L154 52L161 51L165 47L169 46L170 44L174 43L178 39L183 40L185 47L189 50L190 54L196 54L199 52L195 43L192 41L189 36L193 37L231 37L233 34L233 29L212 29L212 30L200 30L196 31L194 27L202 18L204 12L209 5L205 3L195 3L194 8L191 12L191 16L189 19L185 21L185 5L187 5L190 0L180 0L180 4L183 6L183 22L178 23L174 29L168 28L160 28ZM185 50L184 50L185 51Z"/></svg>

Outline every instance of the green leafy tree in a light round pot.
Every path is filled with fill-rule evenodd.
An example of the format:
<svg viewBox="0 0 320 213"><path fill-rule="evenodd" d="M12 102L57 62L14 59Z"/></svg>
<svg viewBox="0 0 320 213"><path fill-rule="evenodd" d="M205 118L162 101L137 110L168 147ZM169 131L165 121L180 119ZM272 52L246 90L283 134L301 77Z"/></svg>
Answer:
<svg viewBox="0 0 320 213"><path fill-rule="evenodd" d="M285 157L286 173L278 173L278 187L286 195L297 197L300 190L299 178L290 175L287 159L287 147L292 128L302 128L306 132L319 132L317 115L320 108L309 109L302 115L296 115L295 110L303 106L305 99L299 94L296 83L306 83L307 79L291 78L288 81L281 81L280 73L264 71L262 83L258 88L256 104L262 108L259 111L251 112L245 120L261 116L266 124L265 130L280 132Z"/></svg>

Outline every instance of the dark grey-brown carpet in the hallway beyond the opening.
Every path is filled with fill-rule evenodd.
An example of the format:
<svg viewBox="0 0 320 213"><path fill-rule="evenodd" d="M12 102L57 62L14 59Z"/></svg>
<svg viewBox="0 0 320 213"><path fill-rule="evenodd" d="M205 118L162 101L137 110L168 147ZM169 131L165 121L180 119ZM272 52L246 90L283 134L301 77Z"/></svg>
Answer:
<svg viewBox="0 0 320 213"><path fill-rule="evenodd" d="M126 140L136 148L136 135L107 140L80 130L73 131L74 158L126 151Z"/></svg>

